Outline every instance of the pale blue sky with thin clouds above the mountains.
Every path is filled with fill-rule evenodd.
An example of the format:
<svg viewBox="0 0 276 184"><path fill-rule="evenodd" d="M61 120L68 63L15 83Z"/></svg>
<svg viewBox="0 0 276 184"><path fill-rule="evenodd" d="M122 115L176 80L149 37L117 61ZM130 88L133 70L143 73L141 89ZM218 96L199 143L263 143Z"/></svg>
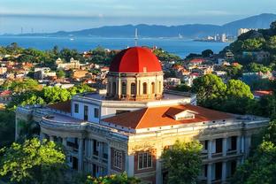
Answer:
<svg viewBox="0 0 276 184"><path fill-rule="evenodd" d="M0 34L123 24L221 25L264 12L276 0L0 0Z"/></svg>

